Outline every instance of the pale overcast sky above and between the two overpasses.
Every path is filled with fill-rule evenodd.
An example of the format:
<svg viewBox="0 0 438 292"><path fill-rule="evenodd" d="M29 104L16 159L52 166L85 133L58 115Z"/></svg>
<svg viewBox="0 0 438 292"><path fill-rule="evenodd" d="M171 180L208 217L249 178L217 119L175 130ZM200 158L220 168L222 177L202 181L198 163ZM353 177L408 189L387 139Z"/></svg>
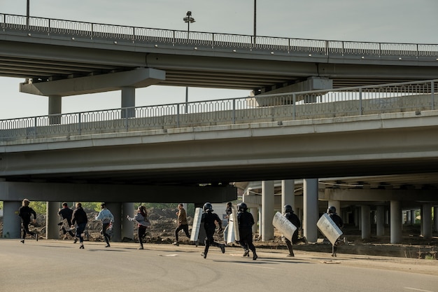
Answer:
<svg viewBox="0 0 438 292"><path fill-rule="evenodd" d="M26 15L27 0L0 0L0 13ZM254 0L30 0L30 15L157 29L253 34ZM437 0L257 0L257 35L337 41L438 44ZM0 48L1 50L1 48ZM0 77L0 120L48 113L48 98L18 92ZM244 97L248 91L190 88L189 100ZM136 90L136 106L184 102L185 88ZM164 102L163 102L164 101ZM64 97L62 112L120 107L120 91Z"/></svg>

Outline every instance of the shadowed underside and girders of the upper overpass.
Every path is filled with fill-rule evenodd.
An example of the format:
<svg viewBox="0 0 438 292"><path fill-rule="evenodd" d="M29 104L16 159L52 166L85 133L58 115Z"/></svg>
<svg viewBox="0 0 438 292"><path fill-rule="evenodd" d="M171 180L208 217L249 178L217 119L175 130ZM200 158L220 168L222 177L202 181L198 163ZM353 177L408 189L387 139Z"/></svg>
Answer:
<svg viewBox="0 0 438 292"><path fill-rule="evenodd" d="M333 88L438 77L437 67L419 66L419 62L407 62L395 67L379 60L368 61L367 64L360 59L338 62L322 56L271 57L267 60L259 56L248 58L232 53L209 55L182 50L182 55L176 55L174 50L163 48L137 48L132 51L110 49L113 48L111 46L80 48L72 46L71 42L68 46L66 43L63 43L64 46L54 43L27 43L22 46L20 42L0 40L0 76L27 78L34 85L47 83L45 87L57 88L62 80L92 80L100 75L111 78L111 74L150 68L166 74L165 80L160 80L157 85L254 90L256 94L293 85L312 76L330 78ZM397 74L394 74L394 70ZM147 85L150 84L139 87ZM100 90L113 90L113 86ZM77 94L82 93L78 91Z"/></svg>

